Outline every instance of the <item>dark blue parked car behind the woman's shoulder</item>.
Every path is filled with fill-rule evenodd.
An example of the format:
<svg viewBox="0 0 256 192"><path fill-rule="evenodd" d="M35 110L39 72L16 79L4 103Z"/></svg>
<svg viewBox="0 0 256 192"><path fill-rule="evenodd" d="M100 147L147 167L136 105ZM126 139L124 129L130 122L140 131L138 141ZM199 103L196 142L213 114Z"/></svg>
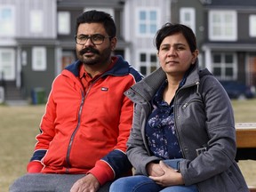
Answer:
<svg viewBox="0 0 256 192"><path fill-rule="evenodd" d="M255 97L255 87L236 81L220 81L230 99L252 99Z"/></svg>

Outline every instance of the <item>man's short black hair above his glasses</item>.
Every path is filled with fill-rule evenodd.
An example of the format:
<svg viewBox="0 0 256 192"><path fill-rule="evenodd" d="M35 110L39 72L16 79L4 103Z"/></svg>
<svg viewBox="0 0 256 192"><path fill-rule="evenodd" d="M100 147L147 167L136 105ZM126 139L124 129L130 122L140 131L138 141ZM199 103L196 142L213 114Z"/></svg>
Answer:
<svg viewBox="0 0 256 192"><path fill-rule="evenodd" d="M108 36L116 36L116 24L112 16L107 12L100 12L96 10L83 12L76 19L76 35L77 29L81 23L102 23Z"/></svg>

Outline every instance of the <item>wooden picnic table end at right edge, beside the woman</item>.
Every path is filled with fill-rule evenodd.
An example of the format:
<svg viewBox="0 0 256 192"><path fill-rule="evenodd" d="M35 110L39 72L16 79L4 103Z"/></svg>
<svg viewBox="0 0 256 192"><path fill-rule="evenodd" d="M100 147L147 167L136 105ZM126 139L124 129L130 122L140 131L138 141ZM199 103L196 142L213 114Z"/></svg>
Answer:
<svg viewBox="0 0 256 192"><path fill-rule="evenodd" d="M236 160L256 160L256 123L236 124ZM255 186L249 186L250 192L256 192Z"/></svg>

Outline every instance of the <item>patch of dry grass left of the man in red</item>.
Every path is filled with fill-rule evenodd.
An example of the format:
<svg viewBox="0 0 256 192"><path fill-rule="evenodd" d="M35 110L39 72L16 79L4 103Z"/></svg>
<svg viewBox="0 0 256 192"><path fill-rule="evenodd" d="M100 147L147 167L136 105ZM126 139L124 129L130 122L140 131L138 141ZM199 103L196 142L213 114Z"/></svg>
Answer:
<svg viewBox="0 0 256 192"><path fill-rule="evenodd" d="M0 106L0 191L26 172L44 114L43 106Z"/></svg>

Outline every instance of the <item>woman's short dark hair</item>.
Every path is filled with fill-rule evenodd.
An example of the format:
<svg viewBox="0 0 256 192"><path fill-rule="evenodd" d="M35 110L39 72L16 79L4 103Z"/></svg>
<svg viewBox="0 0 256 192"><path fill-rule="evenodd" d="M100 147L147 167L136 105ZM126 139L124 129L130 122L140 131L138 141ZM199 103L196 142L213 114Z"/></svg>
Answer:
<svg viewBox="0 0 256 192"><path fill-rule="evenodd" d="M196 36L191 28L188 28L182 24L165 23L162 28L156 32L155 45L157 51L159 51L160 44L162 44L166 36L172 36L173 34L181 33L187 40L190 51L196 51Z"/></svg>

